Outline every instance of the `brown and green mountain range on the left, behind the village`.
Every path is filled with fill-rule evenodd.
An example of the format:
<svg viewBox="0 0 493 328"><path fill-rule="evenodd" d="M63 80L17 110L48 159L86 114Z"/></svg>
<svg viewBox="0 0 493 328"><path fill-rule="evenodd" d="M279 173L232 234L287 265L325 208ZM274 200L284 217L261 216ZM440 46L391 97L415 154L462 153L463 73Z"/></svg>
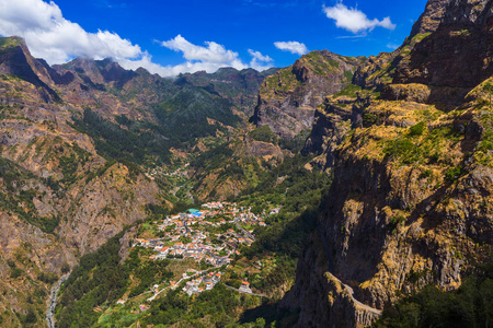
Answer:
<svg viewBox="0 0 493 328"><path fill-rule="evenodd" d="M149 167L183 165L203 138L234 129L263 74L171 80L89 58L50 67L23 39L0 38L1 325L43 326L59 277L149 209L176 203Z"/></svg>

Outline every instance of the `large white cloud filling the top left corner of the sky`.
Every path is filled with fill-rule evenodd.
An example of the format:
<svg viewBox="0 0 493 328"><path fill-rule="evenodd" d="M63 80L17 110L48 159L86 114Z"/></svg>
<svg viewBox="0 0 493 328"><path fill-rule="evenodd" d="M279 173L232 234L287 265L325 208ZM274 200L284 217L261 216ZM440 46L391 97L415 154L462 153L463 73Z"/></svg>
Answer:
<svg viewBox="0 0 493 328"><path fill-rule="evenodd" d="M138 45L108 31L85 32L79 24L64 19L53 1L0 1L0 34L22 36L34 57L61 63L76 56L115 60L139 58Z"/></svg>

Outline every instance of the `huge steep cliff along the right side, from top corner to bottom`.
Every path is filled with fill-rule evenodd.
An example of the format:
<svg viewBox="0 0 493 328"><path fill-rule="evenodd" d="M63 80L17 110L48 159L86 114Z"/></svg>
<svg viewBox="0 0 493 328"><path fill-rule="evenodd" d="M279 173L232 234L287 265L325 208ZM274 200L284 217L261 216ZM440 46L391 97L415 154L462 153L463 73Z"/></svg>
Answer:
<svg viewBox="0 0 493 328"><path fill-rule="evenodd" d="M427 9L437 10L436 3ZM393 83L380 98L370 95L359 106L365 91L358 90L351 109L339 108L342 95L328 99L325 113L319 109L314 131L325 130L318 139L312 133L311 147L330 149L334 181L295 286L283 300L299 311L299 327L369 325L402 293L429 283L457 289L466 272L491 259L493 79L491 42L482 43L492 34L491 1L443 5L439 14L422 16L442 17L439 26L431 25L435 32L416 34L412 39L421 40L409 52L400 48ZM474 44L469 59L450 34L457 26L468 26L460 37ZM432 46L442 42L440 50ZM419 96L436 86L442 89L434 97ZM402 93L390 92L397 90ZM341 118L353 128L343 138ZM334 138L339 147L332 147ZM366 307L357 309L358 302Z"/></svg>

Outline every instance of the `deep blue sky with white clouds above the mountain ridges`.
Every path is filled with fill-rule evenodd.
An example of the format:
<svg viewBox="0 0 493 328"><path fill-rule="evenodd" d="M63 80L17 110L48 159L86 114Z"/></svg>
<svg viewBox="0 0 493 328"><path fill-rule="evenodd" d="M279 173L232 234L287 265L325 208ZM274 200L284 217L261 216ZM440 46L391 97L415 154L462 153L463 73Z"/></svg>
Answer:
<svg viewBox="0 0 493 328"><path fill-rule="evenodd" d="M402 44L425 0L0 0L0 34L60 63L113 57L161 75L286 67L317 49L369 56ZM288 43L291 42L291 43Z"/></svg>

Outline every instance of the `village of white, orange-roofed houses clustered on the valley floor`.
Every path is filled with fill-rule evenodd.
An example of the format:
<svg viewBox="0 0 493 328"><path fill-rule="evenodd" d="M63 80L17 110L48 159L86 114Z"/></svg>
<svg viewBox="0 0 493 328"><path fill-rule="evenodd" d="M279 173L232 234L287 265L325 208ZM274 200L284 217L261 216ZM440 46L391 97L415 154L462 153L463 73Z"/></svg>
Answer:
<svg viewBox="0 0 493 328"><path fill-rule="evenodd" d="M240 254L238 248L249 247L255 241L253 229L266 226L265 215L278 211L279 208L274 208L255 215L251 208L239 207L234 202L207 202L200 210L188 209L185 213L168 215L162 222L154 222L160 237L136 238L133 247L152 249L150 260L193 259L197 263L205 263L207 270L188 269L180 281L171 281L167 286L176 289L186 281L182 291L188 295L198 294L211 290L220 281L222 272L219 270L227 268L233 257ZM154 295L148 301L152 301L163 290L154 285ZM243 281L238 292L252 293L250 283Z"/></svg>

